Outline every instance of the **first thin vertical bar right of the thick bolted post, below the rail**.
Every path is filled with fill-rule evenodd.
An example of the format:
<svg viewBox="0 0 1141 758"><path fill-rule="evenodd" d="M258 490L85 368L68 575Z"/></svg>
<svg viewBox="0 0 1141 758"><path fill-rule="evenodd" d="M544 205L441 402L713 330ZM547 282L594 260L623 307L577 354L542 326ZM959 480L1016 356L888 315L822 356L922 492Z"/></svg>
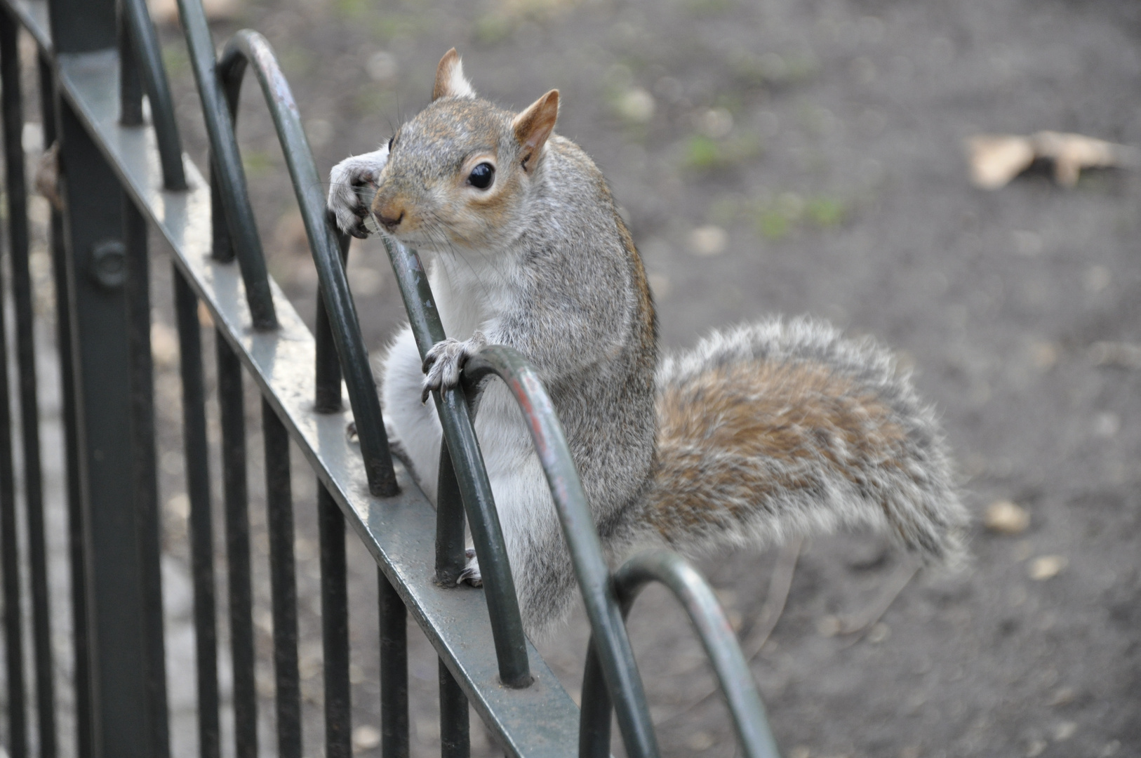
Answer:
<svg viewBox="0 0 1141 758"><path fill-rule="evenodd" d="M183 373L183 440L186 490L191 500L191 567L194 576L194 639L197 656L199 748L217 758L218 637L215 621L213 530L210 519L210 470L207 449L205 385L202 378L202 328L199 300L177 267L175 312Z"/></svg>

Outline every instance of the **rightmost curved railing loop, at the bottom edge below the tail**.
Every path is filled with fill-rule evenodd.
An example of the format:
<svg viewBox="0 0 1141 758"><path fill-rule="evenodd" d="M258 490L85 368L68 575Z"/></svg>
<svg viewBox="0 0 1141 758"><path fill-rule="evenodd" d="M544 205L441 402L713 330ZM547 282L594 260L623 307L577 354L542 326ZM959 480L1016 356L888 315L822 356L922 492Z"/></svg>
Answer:
<svg viewBox="0 0 1141 758"><path fill-rule="evenodd" d="M688 561L670 550L650 550L623 564L614 573L614 588L623 618L630 613L630 606L642 588L655 581L673 592L693 621L721 684L744 755L747 758L779 758L764 716L764 705L733 627L709 582ZM610 695L604 674L592 637L582 683L580 758L605 758L610 753Z"/></svg>

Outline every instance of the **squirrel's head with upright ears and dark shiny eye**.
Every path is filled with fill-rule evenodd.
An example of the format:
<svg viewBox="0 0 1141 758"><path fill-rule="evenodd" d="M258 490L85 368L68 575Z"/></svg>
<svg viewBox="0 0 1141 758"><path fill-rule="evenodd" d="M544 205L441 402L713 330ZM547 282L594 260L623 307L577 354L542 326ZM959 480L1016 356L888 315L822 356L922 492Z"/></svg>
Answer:
<svg viewBox="0 0 1141 758"><path fill-rule="evenodd" d="M553 89L521 113L479 99L452 48L436 70L431 104L388 143L372 201L377 220L426 250L505 245L523 231L558 111Z"/></svg>

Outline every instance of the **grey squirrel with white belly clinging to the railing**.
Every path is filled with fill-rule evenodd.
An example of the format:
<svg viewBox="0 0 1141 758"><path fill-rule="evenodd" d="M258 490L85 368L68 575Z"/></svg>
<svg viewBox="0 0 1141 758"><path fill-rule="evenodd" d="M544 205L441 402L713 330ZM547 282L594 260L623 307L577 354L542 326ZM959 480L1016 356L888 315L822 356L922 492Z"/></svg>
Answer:
<svg viewBox="0 0 1141 758"><path fill-rule="evenodd" d="M386 424L429 500L442 440L429 393L501 344L550 393L610 559L654 542L694 554L856 525L929 563L960 559L966 511L944 435L885 348L770 318L659 357L641 258L599 169L553 132L558 111L558 90L520 113L480 99L453 48L431 103L331 172L343 232L365 237L372 221L426 257L450 334L421 361L405 324L380 361ZM542 634L568 608L574 572L502 382L484 393L476 434L524 624ZM469 556L463 578L478 583Z"/></svg>

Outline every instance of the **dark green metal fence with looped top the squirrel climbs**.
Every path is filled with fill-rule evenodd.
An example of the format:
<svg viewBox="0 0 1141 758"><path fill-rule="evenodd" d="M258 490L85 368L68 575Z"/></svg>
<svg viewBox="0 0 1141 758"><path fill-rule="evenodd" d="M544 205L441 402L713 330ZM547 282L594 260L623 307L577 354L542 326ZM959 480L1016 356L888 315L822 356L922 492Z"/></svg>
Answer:
<svg viewBox="0 0 1141 758"><path fill-rule="evenodd" d="M221 55L200 0L178 0L210 139L210 178L184 156L155 30L144 0L0 0L6 196L13 308L0 282L0 551L7 751L81 758L169 755L160 511L155 467L147 235L173 250L194 588L197 721L219 756L218 608L200 305L216 336L234 752L259 755L254 686L246 432L242 376L261 394L273 604L277 745L301 755L290 440L319 481L325 756L353 753L346 522L379 570L382 755L408 755L406 619L439 656L443 756L468 755L468 703L509 756L606 756L612 712L630 756L657 744L623 623L647 582L693 619L744 755L776 756L748 667L712 591L680 557L653 553L612 573L550 400L526 360L489 347L461 388L436 393L444 427L438 509L394 466L345 275L348 240L324 212L322 183L290 88L265 39L234 35ZM66 460L76 729L59 734L39 438L32 280L17 37L37 46L44 145L57 145L62 202L51 211L57 349ZM317 268L316 334L267 275L234 136L252 70L276 127ZM144 107L149 103L149 119ZM386 241L421 353L444 338L414 250ZM15 314L15 329L3 323ZM23 497L17 499L7 336L15 333ZM523 634L491 486L468 402L499 377L519 401L551 486L591 624L582 711ZM342 379L350 409L342 408ZM346 435L356 422L359 446ZM18 513L18 506L23 511ZM464 523L484 591L455 591ZM21 549L26 555L21 555ZM426 567L435 566L435 576ZM30 588L30 602L22 597ZM24 638L23 610L32 639ZM25 651L25 648L31 648ZM29 677L27 672L32 676ZM34 703L32 694L34 693ZM29 716L34 713L34 726ZM34 732L32 731L34 729Z"/></svg>

